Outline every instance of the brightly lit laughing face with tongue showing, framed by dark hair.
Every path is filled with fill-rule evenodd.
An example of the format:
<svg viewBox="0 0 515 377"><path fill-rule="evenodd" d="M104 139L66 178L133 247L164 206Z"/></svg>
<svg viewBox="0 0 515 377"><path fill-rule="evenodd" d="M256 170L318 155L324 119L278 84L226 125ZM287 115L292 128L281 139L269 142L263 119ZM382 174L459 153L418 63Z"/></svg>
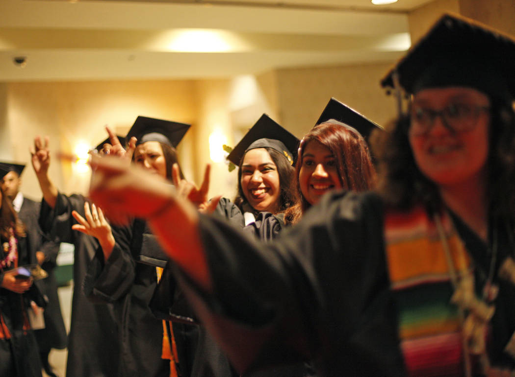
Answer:
<svg viewBox="0 0 515 377"><path fill-rule="evenodd" d="M279 172L266 149L255 148L245 154L240 184L252 208L272 213L278 210Z"/></svg>

